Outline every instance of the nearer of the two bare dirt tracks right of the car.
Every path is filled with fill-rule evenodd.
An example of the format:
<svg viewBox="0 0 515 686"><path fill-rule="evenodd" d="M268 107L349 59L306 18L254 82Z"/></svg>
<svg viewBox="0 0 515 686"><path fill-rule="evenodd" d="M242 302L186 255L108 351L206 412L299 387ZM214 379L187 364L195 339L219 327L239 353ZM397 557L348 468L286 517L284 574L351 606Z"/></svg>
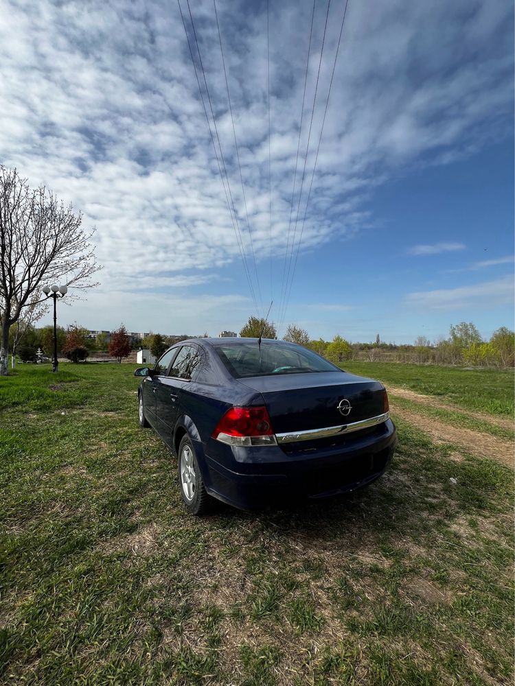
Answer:
<svg viewBox="0 0 515 686"><path fill-rule="evenodd" d="M389 390L392 393L394 392L393 388ZM398 389L395 392L397 393ZM513 441L503 440L503 438L497 438L490 434L483 434L481 431L472 431L472 429L444 424L435 418L424 417L422 414L406 410L404 407L396 407L395 401L392 401L391 405L393 415L398 415L418 429L422 429L422 431L431 436L435 443L452 443L479 458L493 458L507 466L514 466Z"/></svg>

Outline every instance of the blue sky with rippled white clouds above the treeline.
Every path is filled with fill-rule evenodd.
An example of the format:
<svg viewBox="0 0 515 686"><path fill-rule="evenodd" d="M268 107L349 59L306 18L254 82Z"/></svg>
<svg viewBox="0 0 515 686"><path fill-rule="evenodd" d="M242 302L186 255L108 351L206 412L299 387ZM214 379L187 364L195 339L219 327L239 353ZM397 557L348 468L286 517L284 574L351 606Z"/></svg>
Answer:
<svg viewBox="0 0 515 686"><path fill-rule="evenodd" d="M325 340L513 328L512 3L348 0L339 43L344 11L0 0L0 163L103 265L60 324L218 335L272 303Z"/></svg>

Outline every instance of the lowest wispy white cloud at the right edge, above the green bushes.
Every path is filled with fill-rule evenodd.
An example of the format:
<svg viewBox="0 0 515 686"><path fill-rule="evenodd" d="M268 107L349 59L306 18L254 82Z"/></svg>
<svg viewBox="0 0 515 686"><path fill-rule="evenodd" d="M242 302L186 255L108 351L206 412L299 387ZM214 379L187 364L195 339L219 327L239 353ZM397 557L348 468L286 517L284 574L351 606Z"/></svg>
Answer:
<svg viewBox="0 0 515 686"><path fill-rule="evenodd" d="M505 276L470 286L410 293L405 303L416 309L464 309L510 305L514 300L514 278Z"/></svg>

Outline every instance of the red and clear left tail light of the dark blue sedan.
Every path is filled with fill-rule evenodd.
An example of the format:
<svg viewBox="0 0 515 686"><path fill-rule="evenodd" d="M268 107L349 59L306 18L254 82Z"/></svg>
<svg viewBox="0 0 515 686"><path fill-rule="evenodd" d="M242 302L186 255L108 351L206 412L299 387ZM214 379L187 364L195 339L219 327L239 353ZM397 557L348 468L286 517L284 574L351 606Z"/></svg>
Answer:
<svg viewBox="0 0 515 686"><path fill-rule="evenodd" d="M228 445L276 445L266 407L231 407L222 416L211 438Z"/></svg>

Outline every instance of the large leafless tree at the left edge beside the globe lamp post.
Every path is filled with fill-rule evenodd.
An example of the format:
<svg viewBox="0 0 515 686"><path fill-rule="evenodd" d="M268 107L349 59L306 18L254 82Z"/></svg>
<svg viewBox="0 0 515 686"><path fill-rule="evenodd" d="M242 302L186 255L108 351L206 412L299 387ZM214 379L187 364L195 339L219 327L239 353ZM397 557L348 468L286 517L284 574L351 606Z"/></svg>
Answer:
<svg viewBox="0 0 515 686"><path fill-rule="evenodd" d="M45 186L30 189L16 169L0 166L0 375L8 374L9 329L38 298L43 279L78 289L96 285L93 230Z"/></svg>

